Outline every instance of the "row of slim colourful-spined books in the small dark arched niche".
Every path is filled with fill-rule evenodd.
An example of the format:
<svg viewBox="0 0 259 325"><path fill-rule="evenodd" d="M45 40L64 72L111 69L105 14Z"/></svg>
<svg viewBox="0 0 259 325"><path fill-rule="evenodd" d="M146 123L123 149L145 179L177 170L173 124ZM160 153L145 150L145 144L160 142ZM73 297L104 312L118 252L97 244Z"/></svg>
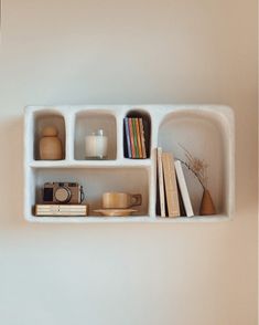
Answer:
<svg viewBox="0 0 259 325"><path fill-rule="evenodd" d="M148 158L148 130L142 117L125 117L126 151L128 158Z"/></svg>

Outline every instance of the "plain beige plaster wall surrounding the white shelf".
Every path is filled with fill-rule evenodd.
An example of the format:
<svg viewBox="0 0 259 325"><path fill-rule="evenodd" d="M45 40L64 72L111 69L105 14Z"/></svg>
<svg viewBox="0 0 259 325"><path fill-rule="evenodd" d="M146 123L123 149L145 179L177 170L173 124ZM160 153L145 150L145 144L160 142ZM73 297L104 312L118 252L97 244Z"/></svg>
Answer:
<svg viewBox="0 0 259 325"><path fill-rule="evenodd" d="M257 1L3 0L0 324L257 324ZM29 104L215 103L236 114L236 218L30 224Z"/></svg>

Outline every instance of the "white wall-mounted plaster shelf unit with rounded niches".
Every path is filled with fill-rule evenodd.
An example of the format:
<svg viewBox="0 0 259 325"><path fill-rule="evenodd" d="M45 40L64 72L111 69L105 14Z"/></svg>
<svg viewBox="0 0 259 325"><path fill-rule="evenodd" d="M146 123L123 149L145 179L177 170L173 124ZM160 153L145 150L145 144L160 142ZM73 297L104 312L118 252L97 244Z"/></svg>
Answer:
<svg viewBox="0 0 259 325"><path fill-rule="evenodd" d="M125 151L123 118L145 118L150 127L148 159L129 159ZM54 124L62 139L63 160L40 160L39 140L44 126ZM108 135L106 160L86 160L84 137L97 128ZM208 188L216 216L161 218L155 214L157 156L161 146L184 159L184 150L204 159ZM28 106L24 123L24 216L35 222L217 222L233 218L235 207L235 123L231 108L220 105L79 105ZM202 189L185 172L194 212L197 214ZM45 181L77 181L85 188L89 217L35 217ZM97 217L105 191L142 195L138 216Z"/></svg>

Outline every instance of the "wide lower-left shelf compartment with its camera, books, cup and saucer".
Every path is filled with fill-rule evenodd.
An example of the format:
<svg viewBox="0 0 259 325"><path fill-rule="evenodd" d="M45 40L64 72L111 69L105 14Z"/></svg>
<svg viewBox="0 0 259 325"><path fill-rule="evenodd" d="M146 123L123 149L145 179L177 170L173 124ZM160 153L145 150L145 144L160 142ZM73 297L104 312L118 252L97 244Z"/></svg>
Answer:
<svg viewBox="0 0 259 325"><path fill-rule="evenodd" d="M148 167L33 167L28 172L28 220L150 214Z"/></svg>

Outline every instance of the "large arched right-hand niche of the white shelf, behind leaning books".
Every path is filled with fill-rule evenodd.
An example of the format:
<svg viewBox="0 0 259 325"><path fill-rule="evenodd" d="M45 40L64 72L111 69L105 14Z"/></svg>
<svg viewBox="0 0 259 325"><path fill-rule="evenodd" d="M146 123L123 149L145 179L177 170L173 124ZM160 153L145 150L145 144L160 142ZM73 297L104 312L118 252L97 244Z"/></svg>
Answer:
<svg viewBox="0 0 259 325"><path fill-rule="evenodd" d="M194 214L204 188L190 165L204 168L216 214L231 218L235 207L235 122L228 106L175 106L159 125L158 146L182 161ZM195 171L195 170L194 170Z"/></svg>

